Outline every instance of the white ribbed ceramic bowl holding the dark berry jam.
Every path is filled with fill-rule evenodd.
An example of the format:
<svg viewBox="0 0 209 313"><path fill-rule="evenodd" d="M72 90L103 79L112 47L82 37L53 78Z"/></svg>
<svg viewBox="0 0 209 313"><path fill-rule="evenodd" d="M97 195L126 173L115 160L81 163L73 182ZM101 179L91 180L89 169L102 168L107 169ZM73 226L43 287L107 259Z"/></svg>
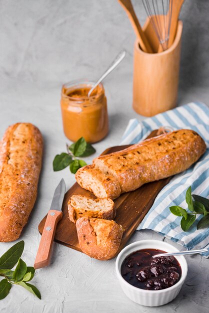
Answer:
<svg viewBox="0 0 209 313"><path fill-rule="evenodd" d="M141 240L133 242L126 247L124 247L120 253L117 255L116 258L116 275L119 279L120 286L122 287L122 290L124 293L134 302L146 305L146 306L159 306L163 305L165 303L168 303L172 301L178 292L180 291L180 288L185 280L186 274L187 274L187 263L185 260L185 257L183 255L175 256L178 260L180 266L181 266L181 277L178 282L176 282L171 287L168 287L166 289L161 290L144 290L137 287L134 287L130 283L128 283L121 275L120 268L122 261L124 258L129 255L130 253L140 250L140 249L160 249L165 252L173 252L173 251L179 251L175 247L173 247L171 244L166 243L164 241L159 240Z"/></svg>

